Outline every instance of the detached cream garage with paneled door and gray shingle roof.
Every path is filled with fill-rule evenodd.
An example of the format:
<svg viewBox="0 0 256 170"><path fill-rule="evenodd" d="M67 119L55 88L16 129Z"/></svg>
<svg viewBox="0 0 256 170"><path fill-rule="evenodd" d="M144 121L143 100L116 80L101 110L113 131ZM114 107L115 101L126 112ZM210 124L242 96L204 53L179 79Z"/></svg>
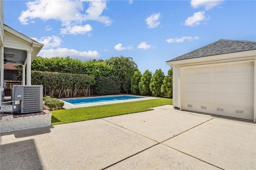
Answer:
<svg viewBox="0 0 256 170"><path fill-rule="evenodd" d="M256 42L218 40L166 64L174 108L256 122Z"/></svg>

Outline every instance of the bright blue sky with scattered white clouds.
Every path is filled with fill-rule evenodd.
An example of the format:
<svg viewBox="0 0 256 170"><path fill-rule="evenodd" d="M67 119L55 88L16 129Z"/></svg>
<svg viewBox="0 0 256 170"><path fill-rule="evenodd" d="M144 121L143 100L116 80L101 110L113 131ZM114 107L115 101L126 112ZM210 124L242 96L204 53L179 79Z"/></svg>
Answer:
<svg viewBox="0 0 256 170"><path fill-rule="evenodd" d="M4 23L43 43L38 56L132 57L138 69L220 39L256 41L254 0L5 0Z"/></svg>

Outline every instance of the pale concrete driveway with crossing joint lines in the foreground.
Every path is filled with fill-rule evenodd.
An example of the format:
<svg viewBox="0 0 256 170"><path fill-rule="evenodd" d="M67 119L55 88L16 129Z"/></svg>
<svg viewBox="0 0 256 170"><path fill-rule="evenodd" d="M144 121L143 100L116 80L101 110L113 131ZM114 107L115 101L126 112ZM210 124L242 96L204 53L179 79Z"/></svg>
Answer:
<svg viewBox="0 0 256 170"><path fill-rule="evenodd" d="M256 124L165 105L7 132L0 169L256 169Z"/></svg>

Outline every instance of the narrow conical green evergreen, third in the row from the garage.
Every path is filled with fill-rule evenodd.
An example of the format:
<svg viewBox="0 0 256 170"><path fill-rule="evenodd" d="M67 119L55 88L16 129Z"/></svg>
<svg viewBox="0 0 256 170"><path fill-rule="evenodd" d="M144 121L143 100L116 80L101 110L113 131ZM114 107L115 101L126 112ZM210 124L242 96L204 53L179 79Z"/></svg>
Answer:
<svg viewBox="0 0 256 170"><path fill-rule="evenodd" d="M140 94L141 95L150 95L150 79L152 78L152 73L148 70L146 70L142 77L140 78L140 83L139 83L139 89L140 89Z"/></svg>

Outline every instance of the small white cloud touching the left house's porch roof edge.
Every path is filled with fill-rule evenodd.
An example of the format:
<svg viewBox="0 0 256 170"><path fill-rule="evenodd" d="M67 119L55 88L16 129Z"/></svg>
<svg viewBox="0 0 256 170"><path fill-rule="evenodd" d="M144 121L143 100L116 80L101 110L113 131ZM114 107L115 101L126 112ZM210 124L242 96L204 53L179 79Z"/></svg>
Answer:
<svg viewBox="0 0 256 170"><path fill-rule="evenodd" d="M36 42L44 44L44 49L47 48L52 48L52 47L58 47L61 45L61 39L57 36L51 36L51 37L41 37L40 39L38 38L31 38L35 40Z"/></svg>

